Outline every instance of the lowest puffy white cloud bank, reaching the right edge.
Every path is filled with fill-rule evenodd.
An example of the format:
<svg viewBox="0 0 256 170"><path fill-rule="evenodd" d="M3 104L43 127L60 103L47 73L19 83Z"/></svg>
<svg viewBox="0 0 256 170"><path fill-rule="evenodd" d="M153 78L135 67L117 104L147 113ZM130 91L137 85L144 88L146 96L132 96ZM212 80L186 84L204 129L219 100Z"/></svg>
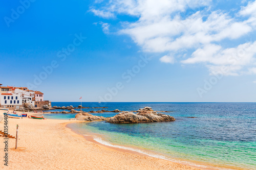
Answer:
<svg viewBox="0 0 256 170"><path fill-rule="evenodd" d="M184 64L205 63L211 74L223 72L226 76L256 74L256 67L243 71L243 68L256 64L256 41L241 44L234 48L223 49L220 45L208 44L196 50ZM224 69L223 69L224 68ZM238 74L238 72L241 72Z"/></svg>

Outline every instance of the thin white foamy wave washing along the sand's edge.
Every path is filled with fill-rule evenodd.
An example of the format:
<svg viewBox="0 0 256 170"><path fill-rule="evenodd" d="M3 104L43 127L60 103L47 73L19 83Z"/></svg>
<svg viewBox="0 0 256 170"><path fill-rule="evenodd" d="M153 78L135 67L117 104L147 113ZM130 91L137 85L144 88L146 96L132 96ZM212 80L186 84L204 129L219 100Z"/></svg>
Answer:
<svg viewBox="0 0 256 170"><path fill-rule="evenodd" d="M84 136L89 136L89 135L84 135ZM98 137L98 136L92 136L92 137L93 137L93 139L95 141L97 141L97 142L99 142L101 144L104 144L106 146L109 146L109 147L125 149L125 150L130 150L130 151L135 151L135 152L138 152L138 153L141 153L141 154L145 154L147 156L151 156L151 157L159 158L159 159L164 159L164 160L168 160L168 161L172 161L172 162L176 162L176 163L182 163L182 164L187 164L187 165L197 166L197 167L202 167L202 168L210 168L210 167L205 166L205 165L199 165L199 164L195 164L195 163L192 163L192 162L186 162L186 161L181 161L181 160L176 160L176 159L170 159L170 158L167 158L167 157L162 156L162 155L148 153L146 151L142 151L142 150L139 150L139 149L134 149L134 148L124 147L124 146L121 146L121 145L111 144L111 143L103 140L101 137ZM227 168L218 168L218 167L214 167L214 168L216 168L216 169L227 169Z"/></svg>

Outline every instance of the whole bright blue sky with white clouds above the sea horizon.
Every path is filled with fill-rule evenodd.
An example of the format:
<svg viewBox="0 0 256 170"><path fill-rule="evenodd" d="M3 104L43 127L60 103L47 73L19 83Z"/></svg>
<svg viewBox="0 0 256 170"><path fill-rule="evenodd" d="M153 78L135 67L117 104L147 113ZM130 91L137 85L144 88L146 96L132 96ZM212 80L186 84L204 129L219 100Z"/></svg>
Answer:
<svg viewBox="0 0 256 170"><path fill-rule="evenodd" d="M256 1L0 4L3 86L52 102L256 102Z"/></svg>

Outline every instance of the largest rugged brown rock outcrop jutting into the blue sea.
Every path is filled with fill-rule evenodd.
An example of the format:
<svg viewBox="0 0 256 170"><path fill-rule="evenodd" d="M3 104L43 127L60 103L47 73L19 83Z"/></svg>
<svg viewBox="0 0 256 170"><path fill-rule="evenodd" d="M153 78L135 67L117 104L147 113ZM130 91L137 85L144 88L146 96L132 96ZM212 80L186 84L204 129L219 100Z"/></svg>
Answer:
<svg viewBox="0 0 256 170"><path fill-rule="evenodd" d="M169 116L162 113L157 113L155 111L145 111L141 110L139 113L135 114L132 112L121 112L106 122L114 124L129 124L129 123L148 123L148 122L167 122L174 121L173 116Z"/></svg>

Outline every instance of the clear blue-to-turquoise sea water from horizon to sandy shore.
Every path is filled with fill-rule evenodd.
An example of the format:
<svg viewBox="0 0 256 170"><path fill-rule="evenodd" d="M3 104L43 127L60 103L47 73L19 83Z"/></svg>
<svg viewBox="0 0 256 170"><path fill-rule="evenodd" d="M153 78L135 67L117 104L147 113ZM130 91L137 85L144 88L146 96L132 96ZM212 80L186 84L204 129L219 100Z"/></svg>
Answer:
<svg viewBox="0 0 256 170"><path fill-rule="evenodd" d="M75 104L53 103L53 106ZM79 103L77 103L79 105ZM97 103L83 103L100 107ZM214 165L256 169L256 103L108 103L105 110L138 110L150 106L176 118L175 122L147 124L76 123L81 134L100 134L105 144L131 146L153 151L166 159L199 161ZM90 111L93 109L84 109ZM101 109L94 109L101 110ZM105 117L116 113L96 113ZM45 117L48 117L44 114ZM75 114L53 114L48 118ZM194 116L196 118L188 118Z"/></svg>

